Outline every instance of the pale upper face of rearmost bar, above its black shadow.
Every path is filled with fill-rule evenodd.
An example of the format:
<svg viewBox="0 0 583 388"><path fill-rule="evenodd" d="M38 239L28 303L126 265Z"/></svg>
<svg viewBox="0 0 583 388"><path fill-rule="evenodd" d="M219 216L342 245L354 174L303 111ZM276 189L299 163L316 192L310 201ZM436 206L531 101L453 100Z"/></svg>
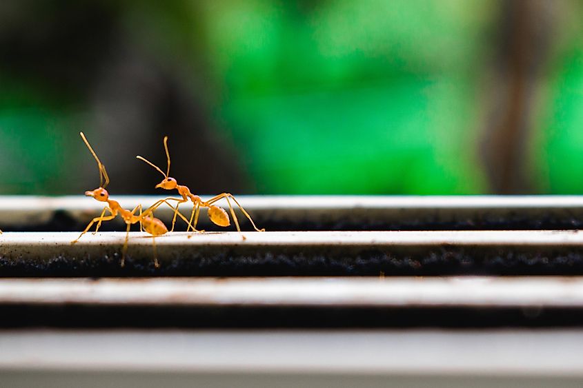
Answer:
<svg viewBox="0 0 583 388"><path fill-rule="evenodd" d="M138 203L148 207L158 199L165 198L111 195L127 209L132 209ZM513 212L563 218L577 218L583 214L583 196L237 196L237 199L254 217L305 221L320 220L324 214L328 220L350 216L384 221L428 214L435 220L457 216L464 219L468 214L500 216ZM224 201L219 204L226 205ZM188 213L190 208L185 203L181 210ZM85 196L1 196L0 225L10 229L10 226L47 223L57 211L86 221L99 214L101 209L103 203ZM164 205L159 207L156 215L168 219L172 211ZM205 222L204 216L201 222Z"/></svg>

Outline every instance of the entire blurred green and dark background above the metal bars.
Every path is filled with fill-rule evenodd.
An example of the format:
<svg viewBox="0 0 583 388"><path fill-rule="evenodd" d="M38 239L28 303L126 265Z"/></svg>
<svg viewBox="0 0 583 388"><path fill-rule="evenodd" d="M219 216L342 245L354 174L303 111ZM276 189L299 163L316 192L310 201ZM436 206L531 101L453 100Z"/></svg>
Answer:
<svg viewBox="0 0 583 388"><path fill-rule="evenodd" d="M582 194L583 1L2 1L0 194Z"/></svg>

